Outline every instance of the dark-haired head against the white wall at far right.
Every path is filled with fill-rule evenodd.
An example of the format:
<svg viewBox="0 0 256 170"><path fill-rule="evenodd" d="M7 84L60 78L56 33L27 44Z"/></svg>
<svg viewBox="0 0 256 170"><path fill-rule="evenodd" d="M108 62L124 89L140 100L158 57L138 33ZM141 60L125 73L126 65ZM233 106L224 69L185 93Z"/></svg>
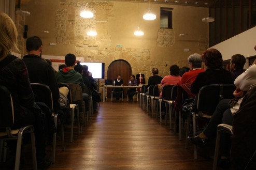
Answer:
<svg viewBox="0 0 256 170"><path fill-rule="evenodd" d="M236 80L238 75L245 72L244 70L245 62L246 62L245 56L241 54L235 54L231 57L230 71L232 74L233 81Z"/></svg>

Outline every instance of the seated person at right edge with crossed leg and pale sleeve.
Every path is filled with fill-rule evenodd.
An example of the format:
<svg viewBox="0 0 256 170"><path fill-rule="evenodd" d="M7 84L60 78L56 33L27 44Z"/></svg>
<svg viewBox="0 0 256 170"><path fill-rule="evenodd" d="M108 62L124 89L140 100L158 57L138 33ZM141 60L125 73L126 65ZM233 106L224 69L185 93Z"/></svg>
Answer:
<svg viewBox="0 0 256 170"><path fill-rule="evenodd" d="M188 137L188 140L195 145L205 145L207 140L212 140L217 135L217 126L221 123L232 125L233 116L239 110L240 103L243 100L246 91L256 86L256 60L254 63L244 72L241 73L235 80L234 84L236 90L234 91L234 99L223 99L219 102L216 107L214 114L206 126L206 128L198 136ZM221 146L221 159L219 161L220 166L227 166L226 161L229 159L230 153L230 136L222 135L222 146ZM225 161L223 161L225 160Z"/></svg>

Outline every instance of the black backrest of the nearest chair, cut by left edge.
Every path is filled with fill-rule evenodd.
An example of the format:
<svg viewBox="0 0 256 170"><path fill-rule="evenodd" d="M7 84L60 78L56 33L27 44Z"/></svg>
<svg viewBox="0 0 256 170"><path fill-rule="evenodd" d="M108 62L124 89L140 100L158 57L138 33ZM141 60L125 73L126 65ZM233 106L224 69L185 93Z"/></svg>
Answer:
<svg viewBox="0 0 256 170"><path fill-rule="evenodd" d="M13 103L8 88L0 85L0 127L11 127L14 122Z"/></svg>

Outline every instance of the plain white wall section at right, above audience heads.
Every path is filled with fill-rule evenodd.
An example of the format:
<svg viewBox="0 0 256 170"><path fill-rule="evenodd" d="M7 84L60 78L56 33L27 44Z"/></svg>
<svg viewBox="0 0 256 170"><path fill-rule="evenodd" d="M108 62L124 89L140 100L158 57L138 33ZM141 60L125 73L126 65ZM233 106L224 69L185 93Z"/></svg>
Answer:
<svg viewBox="0 0 256 170"><path fill-rule="evenodd" d="M254 46L256 45L256 26L238 34L235 37L227 39L211 48L221 52L223 60L230 59L234 54L242 54L245 57L256 55Z"/></svg>

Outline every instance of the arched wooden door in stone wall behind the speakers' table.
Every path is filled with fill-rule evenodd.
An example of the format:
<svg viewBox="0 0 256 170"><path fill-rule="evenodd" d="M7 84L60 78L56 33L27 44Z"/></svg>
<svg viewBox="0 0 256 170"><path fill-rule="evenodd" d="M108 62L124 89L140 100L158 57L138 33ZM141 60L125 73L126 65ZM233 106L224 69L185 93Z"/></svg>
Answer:
<svg viewBox="0 0 256 170"><path fill-rule="evenodd" d="M130 79L130 75L132 74L132 67L131 65L123 60L118 59L113 61L108 66L108 79L115 80L117 79L117 75L121 75L121 79L123 79L123 85L128 85L128 80ZM111 88L108 88L108 98L111 98ZM126 97L127 89L124 88L124 96Z"/></svg>

